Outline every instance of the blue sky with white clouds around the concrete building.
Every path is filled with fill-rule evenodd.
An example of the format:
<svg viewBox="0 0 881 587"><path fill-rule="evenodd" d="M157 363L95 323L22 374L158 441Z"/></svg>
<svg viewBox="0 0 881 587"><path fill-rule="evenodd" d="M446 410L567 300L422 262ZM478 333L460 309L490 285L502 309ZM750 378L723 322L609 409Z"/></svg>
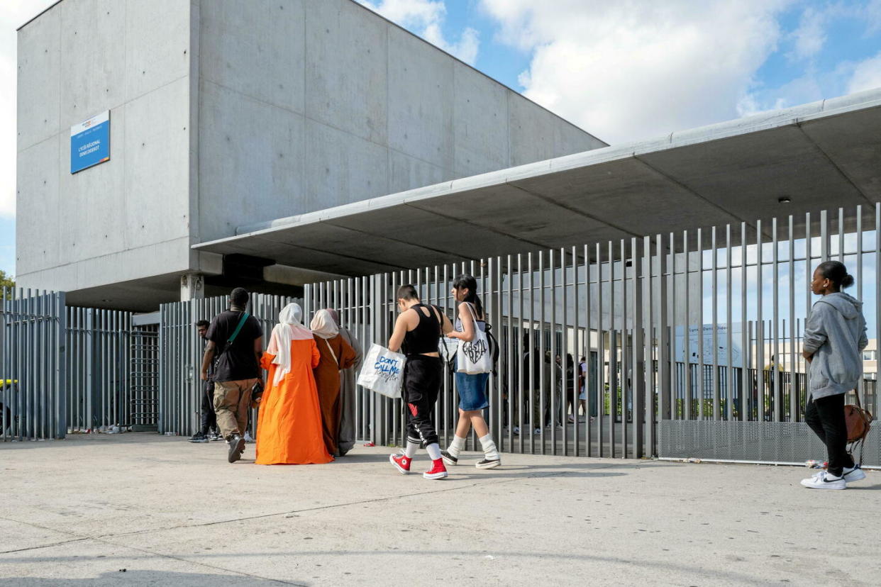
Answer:
<svg viewBox="0 0 881 587"><path fill-rule="evenodd" d="M16 32L0 0L0 269L15 273ZM881 0L359 0L606 143L881 87Z"/></svg>

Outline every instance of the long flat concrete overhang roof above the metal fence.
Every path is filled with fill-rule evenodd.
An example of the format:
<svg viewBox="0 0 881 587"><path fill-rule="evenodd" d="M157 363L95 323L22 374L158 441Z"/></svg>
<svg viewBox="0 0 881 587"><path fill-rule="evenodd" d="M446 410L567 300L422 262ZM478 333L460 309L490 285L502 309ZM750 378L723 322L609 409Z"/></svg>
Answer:
<svg viewBox="0 0 881 587"><path fill-rule="evenodd" d="M790 214L803 224L805 212L878 201L881 89L241 226L193 248L366 275Z"/></svg>

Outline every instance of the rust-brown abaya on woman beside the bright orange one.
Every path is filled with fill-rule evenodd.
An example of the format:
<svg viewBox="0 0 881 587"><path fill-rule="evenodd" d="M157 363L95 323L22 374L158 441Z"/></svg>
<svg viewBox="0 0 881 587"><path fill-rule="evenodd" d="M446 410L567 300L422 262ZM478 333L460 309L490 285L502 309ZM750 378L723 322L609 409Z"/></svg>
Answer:
<svg viewBox="0 0 881 587"><path fill-rule="evenodd" d="M322 432L324 446L332 455L337 455L339 437L339 371L348 369L355 363L355 349L337 334L333 338L321 338L315 334L315 343L321 354L321 361L315 366L315 384L318 385L318 401L322 407Z"/></svg>

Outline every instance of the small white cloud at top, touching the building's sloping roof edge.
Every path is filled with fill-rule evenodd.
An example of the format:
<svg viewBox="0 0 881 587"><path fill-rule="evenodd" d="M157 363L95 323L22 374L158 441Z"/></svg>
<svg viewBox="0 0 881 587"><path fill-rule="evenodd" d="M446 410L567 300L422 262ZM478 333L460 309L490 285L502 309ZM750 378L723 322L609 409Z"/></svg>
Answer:
<svg viewBox="0 0 881 587"><path fill-rule="evenodd" d="M463 62L474 65L478 58L480 39L475 29L466 28L458 42L450 42L444 38L441 26L447 15L447 6L443 0L358 1L392 22L417 33L450 55L455 55Z"/></svg>

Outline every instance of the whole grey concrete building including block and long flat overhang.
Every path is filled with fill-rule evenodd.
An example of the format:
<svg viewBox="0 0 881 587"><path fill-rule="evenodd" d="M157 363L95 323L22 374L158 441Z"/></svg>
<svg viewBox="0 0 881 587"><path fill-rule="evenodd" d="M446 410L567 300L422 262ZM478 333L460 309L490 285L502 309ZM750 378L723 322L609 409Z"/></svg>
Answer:
<svg viewBox="0 0 881 587"><path fill-rule="evenodd" d="M68 129L102 112L109 160L71 173ZM18 185L20 284L152 310L788 214L801 230L881 201L881 90L608 146L352 0L63 0L19 29Z"/></svg>

